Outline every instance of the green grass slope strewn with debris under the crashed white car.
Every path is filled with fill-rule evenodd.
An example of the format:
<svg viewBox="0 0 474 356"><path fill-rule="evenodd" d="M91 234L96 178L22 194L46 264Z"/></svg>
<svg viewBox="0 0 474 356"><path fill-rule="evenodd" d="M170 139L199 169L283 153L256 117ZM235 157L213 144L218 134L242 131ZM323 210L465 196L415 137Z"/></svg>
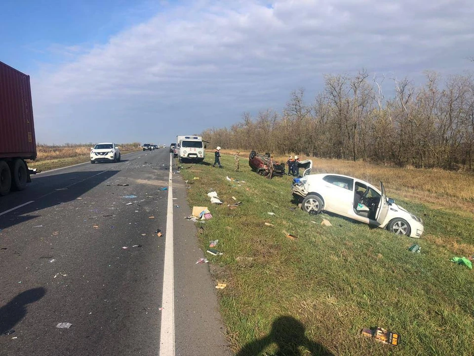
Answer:
<svg viewBox="0 0 474 356"><path fill-rule="evenodd" d="M211 158L206 161L212 163ZM218 291L219 303L238 355L273 355L278 344L285 355L299 355L297 350L301 355L472 354L474 272L449 262L474 254L469 211L447 214L423 203L424 196L440 199L439 193L400 186L402 193L392 196L424 218L426 232L421 240L400 238L292 209L297 206L291 203L291 179L252 173L244 154L241 172L234 172L230 155L223 155L222 163L224 169L184 164L181 174L192 183L190 205L208 206L214 216L198 238L204 251L210 240L219 239L216 248L224 253L206 257L216 282L228 283ZM318 168L324 169L319 161ZM381 174L380 169L374 173ZM449 189L449 181L442 183ZM411 198L404 196L408 189L416 193ZM210 205L206 194L211 190L224 205ZM227 208L232 196L243 203L236 210ZM332 226L322 226L323 217ZM289 240L283 230L297 240ZM407 251L413 242L422 254ZM362 327L375 325L401 334L402 344L389 347L359 336Z"/></svg>

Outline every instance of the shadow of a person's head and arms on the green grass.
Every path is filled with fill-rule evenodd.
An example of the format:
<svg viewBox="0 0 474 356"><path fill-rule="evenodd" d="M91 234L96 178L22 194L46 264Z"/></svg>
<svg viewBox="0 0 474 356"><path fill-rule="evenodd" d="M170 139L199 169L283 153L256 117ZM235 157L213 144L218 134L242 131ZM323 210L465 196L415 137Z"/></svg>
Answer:
<svg viewBox="0 0 474 356"><path fill-rule="evenodd" d="M306 348L312 356L334 356L324 346L308 339L301 321L289 315L277 317L267 336L246 344L236 356L261 355L272 344L278 346L275 356L301 356L300 347Z"/></svg>

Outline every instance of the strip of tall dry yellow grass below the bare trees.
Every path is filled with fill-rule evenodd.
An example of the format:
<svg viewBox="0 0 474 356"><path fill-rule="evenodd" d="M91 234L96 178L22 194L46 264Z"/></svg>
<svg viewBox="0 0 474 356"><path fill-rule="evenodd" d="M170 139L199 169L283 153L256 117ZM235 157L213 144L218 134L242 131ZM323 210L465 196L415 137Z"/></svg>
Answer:
<svg viewBox="0 0 474 356"><path fill-rule="evenodd" d="M235 150L221 150L235 154ZM240 152L240 163L246 164L250 152ZM210 152L212 154L212 152ZM433 169L413 169L381 166L358 161L323 159L298 155L300 160L313 160L314 173L337 173L366 180L375 186L384 182L387 192L395 197L427 204L432 208L464 211L474 214L474 175ZM286 156L276 156L284 162Z"/></svg>

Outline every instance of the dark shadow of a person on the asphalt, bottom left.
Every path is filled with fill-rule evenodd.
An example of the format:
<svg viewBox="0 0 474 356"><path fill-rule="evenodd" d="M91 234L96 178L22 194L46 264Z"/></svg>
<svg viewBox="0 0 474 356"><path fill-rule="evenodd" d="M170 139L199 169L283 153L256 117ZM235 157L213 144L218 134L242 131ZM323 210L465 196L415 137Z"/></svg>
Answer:
<svg viewBox="0 0 474 356"><path fill-rule="evenodd" d="M27 313L27 304L39 301L46 294L46 289L39 287L18 294L0 308L0 335L10 331Z"/></svg>

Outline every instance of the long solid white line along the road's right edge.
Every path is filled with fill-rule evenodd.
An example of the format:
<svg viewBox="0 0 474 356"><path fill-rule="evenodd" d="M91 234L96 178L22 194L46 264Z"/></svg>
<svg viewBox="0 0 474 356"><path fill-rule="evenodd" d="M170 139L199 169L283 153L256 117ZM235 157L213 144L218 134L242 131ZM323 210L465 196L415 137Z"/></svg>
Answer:
<svg viewBox="0 0 474 356"><path fill-rule="evenodd" d="M163 297L159 356L174 356L174 261L173 261L173 157L169 157L168 211L166 217Z"/></svg>

